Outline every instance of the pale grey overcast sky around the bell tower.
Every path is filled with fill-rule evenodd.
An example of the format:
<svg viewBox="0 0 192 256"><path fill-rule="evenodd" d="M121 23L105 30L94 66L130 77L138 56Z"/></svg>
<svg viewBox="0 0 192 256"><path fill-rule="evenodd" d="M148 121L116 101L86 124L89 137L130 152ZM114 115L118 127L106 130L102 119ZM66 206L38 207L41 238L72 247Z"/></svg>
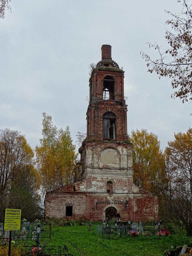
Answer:
<svg viewBox="0 0 192 256"><path fill-rule="evenodd" d="M140 51L157 57L147 42L166 49L166 10L177 0L12 0L0 24L0 129L25 134L39 144L42 112L58 128L69 125L74 144L86 131L89 63L101 60L101 46L125 71L128 133L147 129L164 150L174 132L191 126L191 104L171 99L169 78L147 72Z"/></svg>

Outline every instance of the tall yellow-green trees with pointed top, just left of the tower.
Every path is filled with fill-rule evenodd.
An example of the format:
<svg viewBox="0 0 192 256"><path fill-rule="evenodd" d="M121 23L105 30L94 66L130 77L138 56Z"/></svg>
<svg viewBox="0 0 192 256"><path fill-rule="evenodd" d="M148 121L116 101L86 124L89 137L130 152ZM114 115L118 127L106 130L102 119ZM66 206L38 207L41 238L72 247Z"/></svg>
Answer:
<svg viewBox="0 0 192 256"><path fill-rule="evenodd" d="M77 155L72 144L69 126L65 130L53 125L52 117L42 114L43 138L36 151L36 166L43 193L74 181Z"/></svg>

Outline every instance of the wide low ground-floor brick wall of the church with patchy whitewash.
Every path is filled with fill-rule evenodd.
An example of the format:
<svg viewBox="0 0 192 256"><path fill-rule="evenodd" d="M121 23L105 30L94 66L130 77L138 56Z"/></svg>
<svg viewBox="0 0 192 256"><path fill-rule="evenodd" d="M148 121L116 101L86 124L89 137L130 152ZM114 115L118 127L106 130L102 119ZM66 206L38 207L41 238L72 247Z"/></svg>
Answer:
<svg viewBox="0 0 192 256"><path fill-rule="evenodd" d="M125 200L128 204L125 207ZM99 202L96 206L96 202ZM66 217L66 205L73 206L72 217ZM45 217L102 221L107 207L120 211L122 221L158 220L158 200L152 194L100 195L99 193L49 192L45 200Z"/></svg>

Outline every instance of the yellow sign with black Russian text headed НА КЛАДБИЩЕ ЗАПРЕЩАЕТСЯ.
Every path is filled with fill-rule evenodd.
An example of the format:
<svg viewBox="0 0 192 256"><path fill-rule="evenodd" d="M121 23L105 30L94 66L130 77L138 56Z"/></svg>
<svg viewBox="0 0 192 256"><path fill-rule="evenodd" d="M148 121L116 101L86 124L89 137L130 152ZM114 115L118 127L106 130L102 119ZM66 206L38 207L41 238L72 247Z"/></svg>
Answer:
<svg viewBox="0 0 192 256"><path fill-rule="evenodd" d="M5 209L4 230L20 230L21 210Z"/></svg>

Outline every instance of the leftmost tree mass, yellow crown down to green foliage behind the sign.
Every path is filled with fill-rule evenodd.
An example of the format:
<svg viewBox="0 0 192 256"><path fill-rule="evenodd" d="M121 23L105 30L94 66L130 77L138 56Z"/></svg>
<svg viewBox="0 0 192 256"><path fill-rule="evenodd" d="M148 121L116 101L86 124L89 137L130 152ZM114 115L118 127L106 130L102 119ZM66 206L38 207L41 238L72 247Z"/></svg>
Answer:
<svg viewBox="0 0 192 256"><path fill-rule="evenodd" d="M25 136L8 128L0 130L0 221L5 208L21 209L28 220L39 216L38 189L34 152Z"/></svg>

